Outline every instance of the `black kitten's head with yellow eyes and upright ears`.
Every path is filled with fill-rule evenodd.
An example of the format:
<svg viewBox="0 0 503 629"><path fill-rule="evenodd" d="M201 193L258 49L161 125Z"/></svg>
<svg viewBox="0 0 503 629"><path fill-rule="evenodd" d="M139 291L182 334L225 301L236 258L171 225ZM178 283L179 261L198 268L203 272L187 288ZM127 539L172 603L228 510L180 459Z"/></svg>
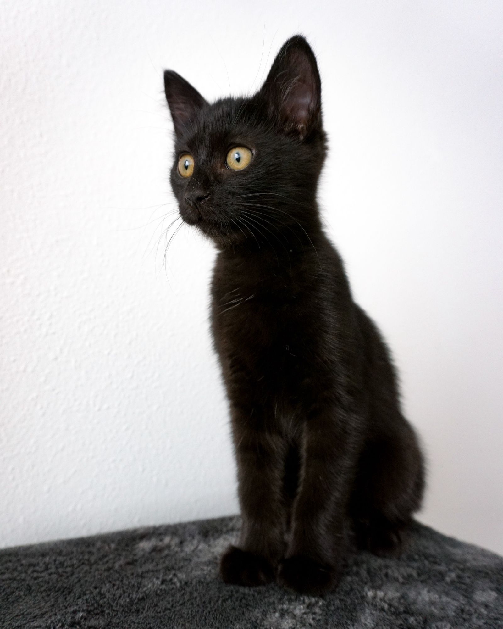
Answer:
<svg viewBox="0 0 503 629"><path fill-rule="evenodd" d="M172 70L164 86L175 128L171 184L184 221L222 248L298 239L318 224L321 83L303 37L284 44L251 97L209 104Z"/></svg>

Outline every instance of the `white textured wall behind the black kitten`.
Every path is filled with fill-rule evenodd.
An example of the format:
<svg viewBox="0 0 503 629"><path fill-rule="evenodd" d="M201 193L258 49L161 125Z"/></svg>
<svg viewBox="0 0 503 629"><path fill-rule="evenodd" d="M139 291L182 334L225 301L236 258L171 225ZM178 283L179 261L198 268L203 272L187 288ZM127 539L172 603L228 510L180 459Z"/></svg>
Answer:
<svg viewBox="0 0 503 629"><path fill-rule="evenodd" d="M428 451L422 518L503 552L502 17L499 0L3 0L0 545L236 511L213 251L184 226L163 265L161 70L245 91L301 31L324 216Z"/></svg>

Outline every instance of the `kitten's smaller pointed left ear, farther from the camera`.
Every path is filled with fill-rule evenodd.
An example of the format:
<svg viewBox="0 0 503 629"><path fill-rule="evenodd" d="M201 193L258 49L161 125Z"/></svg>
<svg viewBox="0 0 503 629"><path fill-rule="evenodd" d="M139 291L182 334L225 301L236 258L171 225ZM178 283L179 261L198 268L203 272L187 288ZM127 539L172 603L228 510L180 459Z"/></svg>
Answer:
<svg viewBox="0 0 503 629"><path fill-rule="evenodd" d="M164 70L164 92L169 104L177 136L182 135L196 117L197 111L207 105L197 89L173 70Z"/></svg>

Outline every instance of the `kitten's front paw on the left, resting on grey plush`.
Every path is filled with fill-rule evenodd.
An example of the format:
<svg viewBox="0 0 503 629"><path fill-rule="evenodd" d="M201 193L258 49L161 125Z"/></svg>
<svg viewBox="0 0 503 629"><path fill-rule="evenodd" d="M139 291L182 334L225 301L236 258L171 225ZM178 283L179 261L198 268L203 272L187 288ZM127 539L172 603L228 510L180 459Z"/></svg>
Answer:
<svg viewBox="0 0 503 629"><path fill-rule="evenodd" d="M230 546L220 560L220 574L226 583L262 586L274 579L272 565L265 557Z"/></svg>

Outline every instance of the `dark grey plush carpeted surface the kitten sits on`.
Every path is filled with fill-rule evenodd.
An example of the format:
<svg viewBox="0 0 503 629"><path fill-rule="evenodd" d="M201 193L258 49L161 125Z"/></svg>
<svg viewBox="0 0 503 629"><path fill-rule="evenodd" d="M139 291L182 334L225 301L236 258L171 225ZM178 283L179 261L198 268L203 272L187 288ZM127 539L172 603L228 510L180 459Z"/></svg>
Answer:
<svg viewBox="0 0 503 629"><path fill-rule="evenodd" d="M414 525L398 559L351 558L336 592L226 586L238 518L0 552L1 629L503 627L503 557Z"/></svg>

